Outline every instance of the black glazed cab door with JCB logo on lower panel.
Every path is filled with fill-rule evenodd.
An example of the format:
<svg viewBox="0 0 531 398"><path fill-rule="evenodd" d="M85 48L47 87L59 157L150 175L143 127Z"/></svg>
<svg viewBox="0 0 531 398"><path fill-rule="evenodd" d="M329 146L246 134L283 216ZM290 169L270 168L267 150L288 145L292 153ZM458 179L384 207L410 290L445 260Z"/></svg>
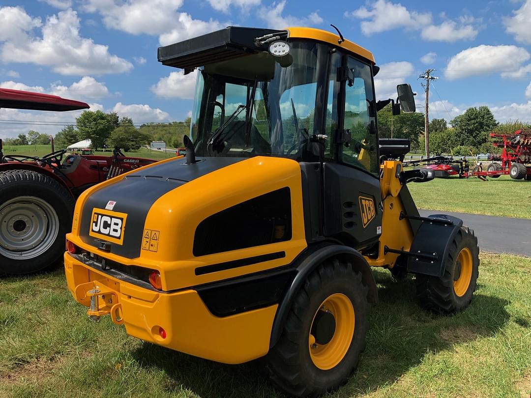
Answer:
<svg viewBox="0 0 531 398"><path fill-rule="evenodd" d="M324 235L362 248L378 241L382 230L372 69L347 55L336 57L339 68L334 63L332 58L329 159L323 165Z"/></svg>

